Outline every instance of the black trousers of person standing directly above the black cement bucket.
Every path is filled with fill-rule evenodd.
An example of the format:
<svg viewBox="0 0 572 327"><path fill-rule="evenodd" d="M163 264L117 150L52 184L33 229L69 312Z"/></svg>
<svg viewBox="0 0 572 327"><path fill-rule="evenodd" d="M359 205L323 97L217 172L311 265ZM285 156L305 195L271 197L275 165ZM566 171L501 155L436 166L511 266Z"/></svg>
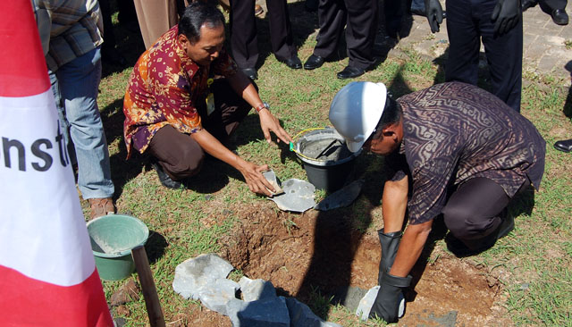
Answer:
<svg viewBox="0 0 572 327"><path fill-rule="evenodd" d="M320 0L320 31L314 55L332 55L346 27L349 66L368 69L374 64L374 40L377 29L377 0Z"/></svg>

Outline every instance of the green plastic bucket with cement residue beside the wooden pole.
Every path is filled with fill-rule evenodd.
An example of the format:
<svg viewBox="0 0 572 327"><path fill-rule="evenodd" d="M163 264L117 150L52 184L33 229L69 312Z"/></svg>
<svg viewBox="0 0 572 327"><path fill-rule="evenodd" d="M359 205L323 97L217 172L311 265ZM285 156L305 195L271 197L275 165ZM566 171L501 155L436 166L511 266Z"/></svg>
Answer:
<svg viewBox="0 0 572 327"><path fill-rule="evenodd" d="M105 281L119 281L135 271L131 249L149 237L145 223L126 214L107 214L88 222L97 272Z"/></svg>

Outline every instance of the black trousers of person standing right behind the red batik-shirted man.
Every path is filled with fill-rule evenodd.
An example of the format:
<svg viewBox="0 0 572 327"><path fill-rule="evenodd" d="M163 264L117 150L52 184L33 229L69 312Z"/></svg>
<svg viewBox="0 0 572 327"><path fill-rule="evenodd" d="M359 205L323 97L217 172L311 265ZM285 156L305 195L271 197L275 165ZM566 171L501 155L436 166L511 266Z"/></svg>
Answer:
<svg viewBox="0 0 572 327"><path fill-rule="evenodd" d="M231 0L232 58L240 68L255 68L258 61L255 0ZM286 0L266 0L270 18L270 43L279 60L296 55Z"/></svg>

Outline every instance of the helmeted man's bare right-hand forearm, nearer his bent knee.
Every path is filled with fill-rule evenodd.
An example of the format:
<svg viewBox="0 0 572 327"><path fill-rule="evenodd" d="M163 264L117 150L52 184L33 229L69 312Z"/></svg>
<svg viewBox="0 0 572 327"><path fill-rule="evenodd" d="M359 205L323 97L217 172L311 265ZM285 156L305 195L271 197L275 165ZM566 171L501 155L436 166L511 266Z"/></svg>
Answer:
<svg viewBox="0 0 572 327"><path fill-rule="evenodd" d="M400 248L397 251L395 261L391 266L390 274L397 277L406 277L415 265L425 242L431 231L433 221L416 225L409 225L401 238Z"/></svg>

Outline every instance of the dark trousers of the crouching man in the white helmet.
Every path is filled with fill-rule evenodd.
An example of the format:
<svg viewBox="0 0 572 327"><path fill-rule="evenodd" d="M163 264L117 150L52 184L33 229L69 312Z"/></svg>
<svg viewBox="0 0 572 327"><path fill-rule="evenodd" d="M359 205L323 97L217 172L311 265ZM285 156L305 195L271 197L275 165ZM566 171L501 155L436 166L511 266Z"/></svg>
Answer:
<svg viewBox="0 0 572 327"><path fill-rule="evenodd" d="M502 211L509 202L510 197L499 184L477 177L467 180L452 193L442 210L443 220L457 239L469 242L483 239L501 225Z"/></svg>

